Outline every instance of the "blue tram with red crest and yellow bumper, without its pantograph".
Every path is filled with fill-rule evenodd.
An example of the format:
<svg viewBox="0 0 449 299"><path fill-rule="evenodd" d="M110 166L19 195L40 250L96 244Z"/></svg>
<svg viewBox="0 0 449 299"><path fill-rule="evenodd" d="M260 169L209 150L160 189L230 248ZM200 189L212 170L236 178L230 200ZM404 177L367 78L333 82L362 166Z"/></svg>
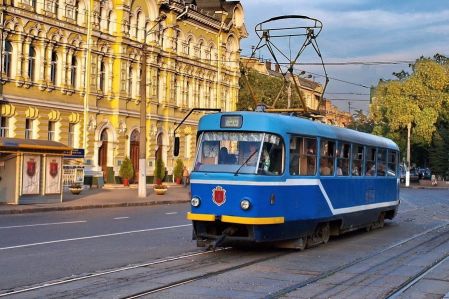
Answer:
<svg viewBox="0 0 449 299"><path fill-rule="evenodd" d="M191 173L198 246L274 243L304 249L383 226L399 205L390 139L259 112L201 118Z"/></svg>

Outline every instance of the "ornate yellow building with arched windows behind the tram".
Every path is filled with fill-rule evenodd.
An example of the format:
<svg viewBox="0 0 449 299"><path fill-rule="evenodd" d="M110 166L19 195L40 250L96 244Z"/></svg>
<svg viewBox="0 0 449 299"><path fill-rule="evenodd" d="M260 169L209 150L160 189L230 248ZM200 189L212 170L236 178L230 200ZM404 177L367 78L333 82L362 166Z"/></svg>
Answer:
<svg viewBox="0 0 449 299"><path fill-rule="evenodd" d="M194 107L235 109L238 1L0 0L0 137L85 149L86 172L138 167L140 74L146 53L147 176L155 157L169 173L173 131ZM144 47L145 45L145 47ZM177 131L194 159L195 113Z"/></svg>

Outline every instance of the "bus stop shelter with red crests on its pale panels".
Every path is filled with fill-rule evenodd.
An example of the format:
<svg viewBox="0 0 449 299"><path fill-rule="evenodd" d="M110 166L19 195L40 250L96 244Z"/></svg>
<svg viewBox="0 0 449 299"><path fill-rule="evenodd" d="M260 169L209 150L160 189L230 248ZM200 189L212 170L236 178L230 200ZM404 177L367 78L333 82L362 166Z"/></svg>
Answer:
<svg viewBox="0 0 449 299"><path fill-rule="evenodd" d="M72 148L60 142L0 138L0 204L62 200L62 157Z"/></svg>

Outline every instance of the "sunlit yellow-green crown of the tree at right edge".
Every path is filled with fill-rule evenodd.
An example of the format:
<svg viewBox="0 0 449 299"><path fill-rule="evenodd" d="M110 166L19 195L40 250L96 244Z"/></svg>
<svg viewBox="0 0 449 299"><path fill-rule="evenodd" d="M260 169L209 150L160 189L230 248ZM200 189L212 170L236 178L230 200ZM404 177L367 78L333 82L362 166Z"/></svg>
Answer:
<svg viewBox="0 0 449 299"><path fill-rule="evenodd" d="M415 142L430 144L442 107L449 99L449 65L419 59L403 80L381 82L371 107L374 133L394 137L412 124Z"/></svg>

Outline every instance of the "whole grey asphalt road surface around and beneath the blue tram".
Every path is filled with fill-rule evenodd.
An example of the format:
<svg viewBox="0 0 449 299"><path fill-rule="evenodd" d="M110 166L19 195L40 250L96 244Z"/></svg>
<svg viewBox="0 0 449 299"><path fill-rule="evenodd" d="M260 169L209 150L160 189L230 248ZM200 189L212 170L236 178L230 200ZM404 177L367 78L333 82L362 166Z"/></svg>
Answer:
<svg viewBox="0 0 449 299"><path fill-rule="evenodd" d="M203 252L191 241L187 210L188 204L177 204L0 216L0 294L165 260L17 298L120 298L195 275L200 278L146 297L383 298L449 253L449 190L402 189L399 214L383 229L332 238L303 252L228 250L167 261L167 257ZM435 227L445 228L426 233ZM408 241L402 244L404 240ZM204 273L209 274L202 278ZM323 278L316 280L320 275ZM305 283L309 280L313 282ZM402 298L441 298L448 292L449 261L445 261Z"/></svg>

